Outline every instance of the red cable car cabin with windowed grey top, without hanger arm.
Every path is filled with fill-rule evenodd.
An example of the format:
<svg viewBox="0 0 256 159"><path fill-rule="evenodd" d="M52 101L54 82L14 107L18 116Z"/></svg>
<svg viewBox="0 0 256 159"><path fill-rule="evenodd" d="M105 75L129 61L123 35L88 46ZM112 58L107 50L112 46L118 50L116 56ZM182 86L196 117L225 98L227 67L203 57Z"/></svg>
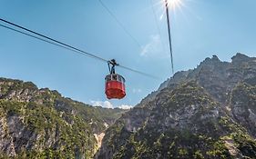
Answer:
<svg viewBox="0 0 256 159"><path fill-rule="evenodd" d="M105 77L105 94L108 99L121 99L125 97L125 78L118 74L107 75Z"/></svg>

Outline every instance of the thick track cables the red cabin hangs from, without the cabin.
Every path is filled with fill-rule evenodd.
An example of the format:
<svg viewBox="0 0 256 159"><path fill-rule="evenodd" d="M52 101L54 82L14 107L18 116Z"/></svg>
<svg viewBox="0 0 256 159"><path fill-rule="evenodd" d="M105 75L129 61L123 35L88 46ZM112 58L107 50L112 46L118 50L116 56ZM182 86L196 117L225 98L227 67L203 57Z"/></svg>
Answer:
<svg viewBox="0 0 256 159"><path fill-rule="evenodd" d="M49 37L49 36L42 35L42 34L39 34L39 33L35 32L35 31L32 31L32 30L30 30L30 29L27 29L26 27L23 27L23 26L21 26L21 25L16 25L16 24L14 24L14 23L12 23L12 22L9 22L9 21L6 21L5 19L2 19L2 18L0 18L0 21L4 22L5 24L8 24L8 25L13 25L13 26L15 26L15 27L18 27L18 28L20 28L20 29L22 29L22 30L25 30L26 32L32 33L32 34L34 34L34 35L30 35L30 34L28 34L28 33L26 33L26 32L17 30L17 29L15 29L15 28L9 27L9 26L7 26L7 25L1 25L1 24L0 24L1 27L4 27L4 28L9 29L9 30L12 30L12 31L15 31L16 33L20 33L20 34L22 34L22 35L27 35L27 36L36 38L37 40L44 41L44 42L46 42L46 43L48 43L48 44L51 44L51 45L57 45L57 46L59 46L59 47L65 48L65 49L67 49L67 50L69 50L69 51L73 51L73 52L75 52L75 53L77 53L77 54L79 54L79 55L86 55L86 56L88 56L88 57L91 57L91 58L94 58L94 59L97 59L97 60L100 60L100 61L106 62L106 63L109 62L109 60L104 59L104 58L102 58L102 57L100 57L100 56L93 55L93 54L91 54L91 53L87 53L87 52L85 52L85 51L83 51L83 50L81 50L81 49L78 49L77 47L74 47L74 46L72 46L72 45L67 45L67 44L65 44L65 43L63 43L63 42L60 42L60 41L58 41L58 40L56 40L56 39L53 39L53 38L51 38L51 37ZM140 74L140 75L145 75L145 76L148 76L148 77L151 77L151 78L159 79L159 77L157 77L157 76L149 75L149 74L146 74L146 73L137 71L137 70L135 70L135 69L132 69L132 68L129 68L129 67L126 67L126 66L123 66L123 65L117 65L117 66L119 66L119 67L121 67L121 68L123 68L123 69L127 69L127 70L129 70L129 71L135 72L135 73Z"/></svg>

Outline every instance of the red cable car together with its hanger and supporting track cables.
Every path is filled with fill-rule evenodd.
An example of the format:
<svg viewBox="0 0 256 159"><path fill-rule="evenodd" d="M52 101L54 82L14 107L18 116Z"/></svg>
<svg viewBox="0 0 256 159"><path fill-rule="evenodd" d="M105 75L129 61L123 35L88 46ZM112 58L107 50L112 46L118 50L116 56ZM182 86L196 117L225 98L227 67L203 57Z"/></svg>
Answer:
<svg viewBox="0 0 256 159"><path fill-rule="evenodd" d="M106 86L105 87L105 94L107 95L108 99L113 99L113 98L121 99L121 98L125 97L125 95L126 95L125 78L122 75L116 74L115 66L118 66L120 68L126 69L126 70L134 72L134 73L137 73L139 75L145 75L145 76L148 76L150 78L159 79L159 77L157 77L157 76L149 75L147 73L140 72L138 70L129 68L129 67L124 66L124 65L118 65L118 63L116 62L115 59L107 60L107 59L102 58L98 55L91 54L91 53L88 53L86 51L83 51L82 49L79 49L75 46L67 45L66 43L60 42L59 40L56 40L52 37L39 34L35 31L32 31L32 30L24 27L24 26L16 25L15 23L9 22L9 21L7 21L5 19L2 19L2 18L0 18L0 21L6 24L6 25L0 24L1 27L4 27L4 28L12 30L12 31L15 31L16 33L19 33L19 34L22 34L22 35L27 35L27 36L33 37L37 40L41 40L43 42L46 42L48 44L57 45L59 47L65 48L65 49L67 49L69 51L72 51L76 54L86 55L87 57L94 58L94 59L97 59L101 62L107 63L108 68L109 68L109 75L107 75L106 78L105 78L105 81L106 81L105 82L105 86ZM14 26L15 26L15 28L14 28ZM111 65L111 68L110 68L110 65Z"/></svg>

